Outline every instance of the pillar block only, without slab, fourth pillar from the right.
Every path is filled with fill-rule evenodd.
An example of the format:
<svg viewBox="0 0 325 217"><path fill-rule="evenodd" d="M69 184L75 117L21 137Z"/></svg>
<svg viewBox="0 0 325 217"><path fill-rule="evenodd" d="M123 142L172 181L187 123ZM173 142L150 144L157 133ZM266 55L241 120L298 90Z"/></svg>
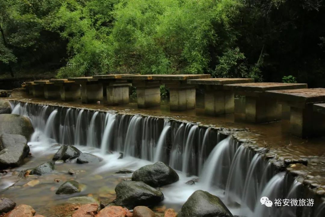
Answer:
<svg viewBox="0 0 325 217"><path fill-rule="evenodd" d="M169 93L171 111L195 108L195 88L170 88Z"/></svg>

